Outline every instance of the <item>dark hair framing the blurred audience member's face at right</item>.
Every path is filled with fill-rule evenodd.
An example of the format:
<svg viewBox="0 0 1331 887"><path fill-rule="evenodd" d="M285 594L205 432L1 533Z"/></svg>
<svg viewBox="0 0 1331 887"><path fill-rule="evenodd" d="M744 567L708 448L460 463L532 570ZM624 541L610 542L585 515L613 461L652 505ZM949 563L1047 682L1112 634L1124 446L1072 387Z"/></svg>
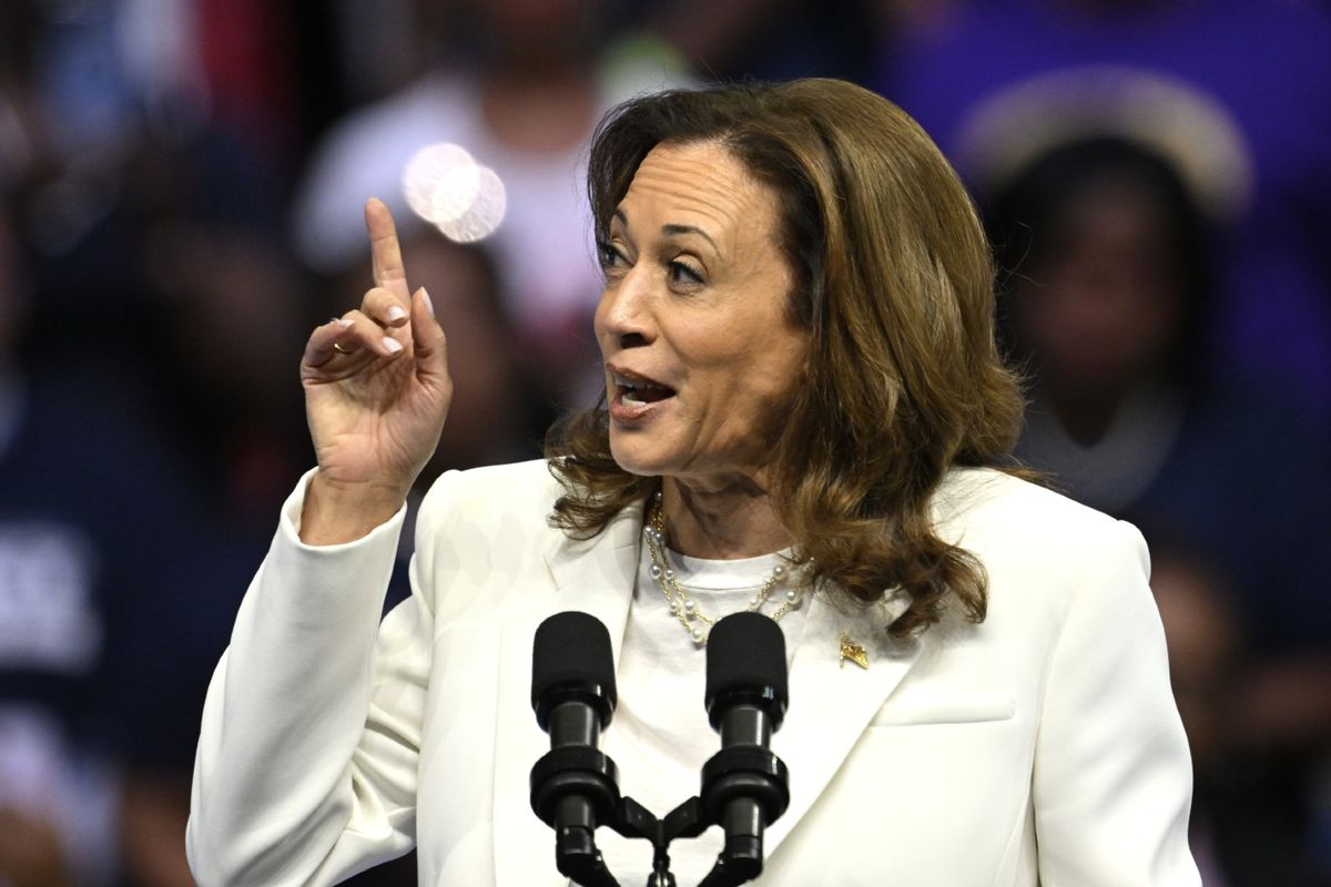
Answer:
<svg viewBox="0 0 1331 887"><path fill-rule="evenodd" d="M1013 299L1024 278L1040 282L1049 263L1070 249L1077 206L1113 186L1154 206L1165 223L1165 253L1174 261L1179 314L1163 367L1185 388L1202 379L1202 342L1213 298L1207 218L1183 177L1162 154L1141 142L1097 136L1054 146L990 190L985 223L998 265L998 340L1008 359L1030 355L1013 328Z"/></svg>

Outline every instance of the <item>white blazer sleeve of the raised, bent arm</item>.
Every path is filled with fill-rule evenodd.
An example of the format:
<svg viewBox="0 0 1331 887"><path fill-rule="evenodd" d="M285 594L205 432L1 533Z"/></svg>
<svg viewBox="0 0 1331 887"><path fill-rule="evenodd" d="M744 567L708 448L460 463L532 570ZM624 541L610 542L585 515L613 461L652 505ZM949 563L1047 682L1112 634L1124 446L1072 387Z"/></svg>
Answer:
<svg viewBox="0 0 1331 887"><path fill-rule="evenodd" d="M333 884L415 840L431 613L379 624L403 513L310 547L303 480L241 604L204 707L186 828L202 887Z"/></svg>

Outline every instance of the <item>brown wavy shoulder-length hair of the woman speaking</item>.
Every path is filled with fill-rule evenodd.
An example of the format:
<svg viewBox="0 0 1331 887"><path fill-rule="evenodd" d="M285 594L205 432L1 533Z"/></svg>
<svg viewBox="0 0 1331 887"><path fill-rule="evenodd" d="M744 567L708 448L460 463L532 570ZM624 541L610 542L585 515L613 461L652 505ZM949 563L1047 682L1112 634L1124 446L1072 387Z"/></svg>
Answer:
<svg viewBox="0 0 1331 887"><path fill-rule="evenodd" d="M953 598L984 620L984 568L934 535L929 497L952 465L1012 465L1022 399L994 344L989 245L956 173L900 108L848 82L664 92L596 130L598 239L652 148L696 142L724 145L781 206L788 310L811 344L772 493L819 588L862 604L905 590L897 637ZM546 455L564 488L551 524L572 536L594 536L660 484L615 464L604 396L556 426Z"/></svg>

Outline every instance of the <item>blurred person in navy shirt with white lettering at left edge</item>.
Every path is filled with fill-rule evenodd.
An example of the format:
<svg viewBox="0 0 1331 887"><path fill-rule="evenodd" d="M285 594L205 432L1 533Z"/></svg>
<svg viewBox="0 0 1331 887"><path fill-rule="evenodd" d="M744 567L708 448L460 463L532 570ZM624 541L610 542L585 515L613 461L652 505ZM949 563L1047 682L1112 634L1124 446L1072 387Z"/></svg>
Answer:
<svg viewBox="0 0 1331 887"><path fill-rule="evenodd" d="M117 701L152 692L133 664L156 649L132 625L149 589L186 588L165 552L192 515L133 375L25 352L29 286L3 229L0 882L112 884L133 733Z"/></svg>

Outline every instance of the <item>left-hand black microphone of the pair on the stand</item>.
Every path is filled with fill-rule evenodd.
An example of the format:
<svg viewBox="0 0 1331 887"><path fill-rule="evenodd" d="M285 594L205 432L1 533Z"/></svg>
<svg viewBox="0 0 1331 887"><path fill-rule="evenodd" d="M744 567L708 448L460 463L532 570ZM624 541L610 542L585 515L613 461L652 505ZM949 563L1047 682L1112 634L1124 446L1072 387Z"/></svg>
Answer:
<svg viewBox="0 0 1331 887"><path fill-rule="evenodd" d="M531 650L531 707L550 753L531 769L531 809L555 830L559 871L583 884L614 884L595 831L619 805L615 762L596 747L615 711L610 632L587 613L551 616Z"/></svg>

